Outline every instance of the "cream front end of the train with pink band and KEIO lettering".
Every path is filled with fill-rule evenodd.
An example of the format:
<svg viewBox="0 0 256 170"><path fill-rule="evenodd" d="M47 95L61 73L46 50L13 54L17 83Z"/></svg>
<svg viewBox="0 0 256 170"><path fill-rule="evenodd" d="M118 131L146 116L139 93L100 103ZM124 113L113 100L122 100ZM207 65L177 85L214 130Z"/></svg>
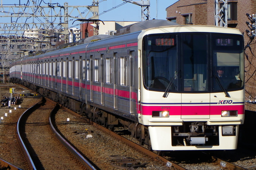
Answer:
<svg viewBox="0 0 256 170"><path fill-rule="evenodd" d="M142 31L138 118L152 150L232 150L244 122L244 38L235 29Z"/></svg>

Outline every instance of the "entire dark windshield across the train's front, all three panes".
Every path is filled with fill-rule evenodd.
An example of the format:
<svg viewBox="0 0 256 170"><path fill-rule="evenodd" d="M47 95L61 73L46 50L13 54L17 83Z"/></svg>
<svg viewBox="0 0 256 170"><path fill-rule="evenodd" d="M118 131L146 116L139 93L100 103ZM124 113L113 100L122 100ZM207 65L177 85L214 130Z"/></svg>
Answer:
<svg viewBox="0 0 256 170"><path fill-rule="evenodd" d="M243 57L242 36L148 35L143 41L144 87L185 93L237 90L244 84Z"/></svg>

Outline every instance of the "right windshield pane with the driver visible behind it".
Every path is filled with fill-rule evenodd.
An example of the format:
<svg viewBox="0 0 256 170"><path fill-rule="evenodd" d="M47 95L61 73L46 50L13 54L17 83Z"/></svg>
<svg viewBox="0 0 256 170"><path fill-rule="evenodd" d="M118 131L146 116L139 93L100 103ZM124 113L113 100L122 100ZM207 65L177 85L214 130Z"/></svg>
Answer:
<svg viewBox="0 0 256 170"><path fill-rule="evenodd" d="M212 36L213 91L232 91L244 86L244 48L240 36Z"/></svg>

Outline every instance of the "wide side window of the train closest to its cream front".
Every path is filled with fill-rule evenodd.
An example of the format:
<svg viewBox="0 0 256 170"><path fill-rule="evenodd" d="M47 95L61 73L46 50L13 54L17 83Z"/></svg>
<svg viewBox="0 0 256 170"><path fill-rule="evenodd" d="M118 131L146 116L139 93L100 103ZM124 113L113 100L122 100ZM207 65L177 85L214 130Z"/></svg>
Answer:
<svg viewBox="0 0 256 170"><path fill-rule="evenodd" d="M128 59L127 57L120 57L120 72L119 72L119 80L121 86L127 86L128 85Z"/></svg>

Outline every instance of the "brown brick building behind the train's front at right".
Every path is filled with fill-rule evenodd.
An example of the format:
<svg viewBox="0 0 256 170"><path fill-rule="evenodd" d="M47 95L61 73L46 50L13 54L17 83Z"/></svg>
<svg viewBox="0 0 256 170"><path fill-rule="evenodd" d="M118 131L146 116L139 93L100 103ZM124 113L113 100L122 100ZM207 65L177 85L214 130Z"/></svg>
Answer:
<svg viewBox="0 0 256 170"><path fill-rule="evenodd" d="M222 5L223 1L219 0L219 6ZM166 12L166 19L178 24L214 26L215 0L178 0L167 7ZM255 13L256 0L228 0L228 27L239 29L244 34L246 99L249 96L256 98L256 38L248 43L250 38L246 32L251 32L246 24L250 22L246 14ZM246 109L256 111L256 104L246 103Z"/></svg>

